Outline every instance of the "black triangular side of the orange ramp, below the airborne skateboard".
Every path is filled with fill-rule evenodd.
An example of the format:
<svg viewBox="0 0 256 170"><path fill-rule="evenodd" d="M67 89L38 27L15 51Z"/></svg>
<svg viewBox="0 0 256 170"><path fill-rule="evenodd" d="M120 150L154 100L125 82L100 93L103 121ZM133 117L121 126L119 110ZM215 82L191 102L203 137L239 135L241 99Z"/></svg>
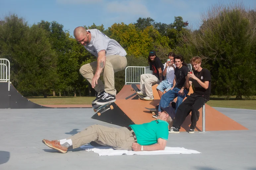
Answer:
<svg viewBox="0 0 256 170"><path fill-rule="evenodd" d="M115 103L111 103L111 105L114 107L113 110L108 110L100 116L95 114L92 119L97 119L122 127L128 127L130 124L134 124L133 121Z"/></svg>

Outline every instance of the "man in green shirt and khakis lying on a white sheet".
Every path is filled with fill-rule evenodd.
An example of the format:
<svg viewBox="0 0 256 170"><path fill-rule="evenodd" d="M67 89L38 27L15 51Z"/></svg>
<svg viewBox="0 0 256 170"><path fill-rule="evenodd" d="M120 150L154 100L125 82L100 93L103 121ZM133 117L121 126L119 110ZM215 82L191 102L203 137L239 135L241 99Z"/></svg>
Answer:
<svg viewBox="0 0 256 170"><path fill-rule="evenodd" d="M42 142L52 149L66 153L69 147L79 148L92 141L116 150L157 151L164 150L168 139L168 125L171 126L175 113L172 107L161 108L157 120L144 124L115 128L92 125L85 130L62 140Z"/></svg>

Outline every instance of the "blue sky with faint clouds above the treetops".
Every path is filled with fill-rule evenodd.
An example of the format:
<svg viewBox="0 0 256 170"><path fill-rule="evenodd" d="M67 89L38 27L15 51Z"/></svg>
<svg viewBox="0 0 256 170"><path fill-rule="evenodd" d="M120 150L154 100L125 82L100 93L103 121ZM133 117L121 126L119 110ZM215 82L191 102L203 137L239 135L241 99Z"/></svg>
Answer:
<svg viewBox="0 0 256 170"><path fill-rule="evenodd" d="M200 14L218 2L226 4L235 0L0 0L0 18L17 14L30 25L40 20L57 21L73 32L77 26L95 23L107 29L113 23L136 22L139 17L169 24L174 16L181 16L196 29ZM256 0L243 3L252 9L256 7Z"/></svg>

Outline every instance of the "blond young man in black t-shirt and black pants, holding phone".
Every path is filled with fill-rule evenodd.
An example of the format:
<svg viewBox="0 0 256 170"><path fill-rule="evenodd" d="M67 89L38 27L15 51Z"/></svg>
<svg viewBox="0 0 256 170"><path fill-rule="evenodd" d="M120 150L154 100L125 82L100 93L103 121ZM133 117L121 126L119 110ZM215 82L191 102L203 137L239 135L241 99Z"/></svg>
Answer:
<svg viewBox="0 0 256 170"><path fill-rule="evenodd" d="M196 122L199 119L199 109L210 100L211 94L211 74L209 70L201 67L202 59L198 56L190 60L194 67L192 74L188 74L189 80L186 79L186 87L189 88L193 83L195 87L194 93L187 95L187 98L179 105L173 125L169 133L179 133L181 124L191 112L191 125L188 133L194 133Z"/></svg>

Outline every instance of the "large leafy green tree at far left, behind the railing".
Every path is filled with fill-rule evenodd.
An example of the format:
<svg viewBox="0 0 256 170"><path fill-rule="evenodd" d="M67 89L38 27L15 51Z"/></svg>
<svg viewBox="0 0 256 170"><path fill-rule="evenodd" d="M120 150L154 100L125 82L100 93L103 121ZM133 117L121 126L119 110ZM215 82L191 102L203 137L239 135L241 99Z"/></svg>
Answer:
<svg viewBox="0 0 256 170"><path fill-rule="evenodd" d="M10 15L0 25L0 57L11 63L11 81L28 95L50 92L56 77L56 55L47 33L23 18Z"/></svg>

